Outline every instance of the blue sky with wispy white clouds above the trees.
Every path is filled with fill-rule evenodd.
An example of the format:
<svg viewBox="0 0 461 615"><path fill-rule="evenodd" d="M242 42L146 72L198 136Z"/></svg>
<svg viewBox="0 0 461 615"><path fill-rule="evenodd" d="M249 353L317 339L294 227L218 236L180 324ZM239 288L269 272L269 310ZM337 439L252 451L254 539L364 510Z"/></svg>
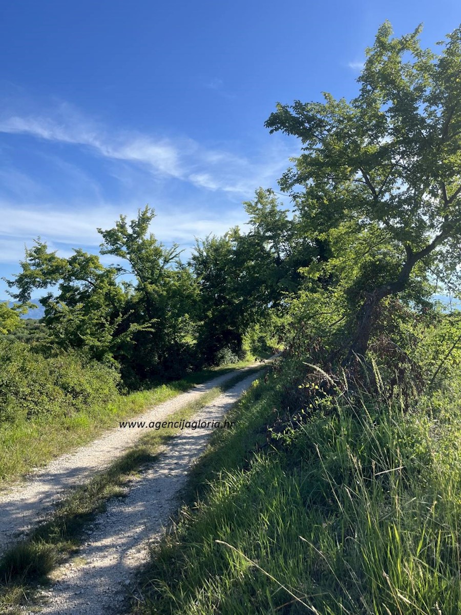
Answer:
<svg viewBox="0 0 461 615"><path fill-rule="evenodd" d="M380 23L424 22L433 46L459 0L16 0L0 7L0 276L41 236L97 251L96 228L156 209L184 247L245 221L298 145L269 135L277 101L350 98ZM6 285L0 282L0 298Z"/></svg>

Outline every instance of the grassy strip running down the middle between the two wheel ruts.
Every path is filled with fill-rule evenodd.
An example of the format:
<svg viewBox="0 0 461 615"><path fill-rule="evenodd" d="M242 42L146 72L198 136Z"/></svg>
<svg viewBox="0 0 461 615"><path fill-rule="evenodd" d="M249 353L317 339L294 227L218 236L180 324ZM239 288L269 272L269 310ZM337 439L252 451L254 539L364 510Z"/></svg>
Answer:
<svg viewBox="0 0 461 615"><path fill-rule="evenodd" d="M259 368L255 368L255 372ZM170 421L190 418L221 392L246 378L251 370L238 373L168 417ZM159 448L178 433L176 429L152 431L140 438L135 447L117 459L89 483L77 488L58 506L50 522L39 526L24 541L13 546L0 559L0 609L14 613L15 608L30 600L38 582L47 582L49 574L75 554L85 536L85 528L106 502L126 493L127 483L142 466L155 461Z"/></svg>

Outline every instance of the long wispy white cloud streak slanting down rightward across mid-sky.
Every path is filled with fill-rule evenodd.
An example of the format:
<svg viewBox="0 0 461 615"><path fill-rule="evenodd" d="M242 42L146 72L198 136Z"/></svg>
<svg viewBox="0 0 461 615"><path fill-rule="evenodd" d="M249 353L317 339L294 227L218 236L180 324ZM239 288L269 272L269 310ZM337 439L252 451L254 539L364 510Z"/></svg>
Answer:
<svg viewBox="0 0 461 615"><path fill-rule="evenodd" d="M207 148L190 138L171 139L135 131L114 131L89 121L70 105L60 105L53 114L0 117L0 132L25 134L42 140L90 148L98 156L141 165L157 178L175 178L197 188L248 197L259 185L273 184L268 169L280 174L288 158L281 151L266 149L249 160L226 149Z"/></svg>

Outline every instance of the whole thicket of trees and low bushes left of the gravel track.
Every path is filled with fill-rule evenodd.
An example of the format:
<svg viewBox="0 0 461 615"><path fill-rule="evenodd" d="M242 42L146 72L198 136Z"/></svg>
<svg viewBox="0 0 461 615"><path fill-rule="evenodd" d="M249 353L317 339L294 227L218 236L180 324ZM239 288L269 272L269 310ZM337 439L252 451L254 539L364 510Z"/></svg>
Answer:
<svg viewBox="0 0 461 615"><path fill-rule="evenodd" d="M246 203L251 230L197 242L189 264L149 231L154 211L98 229L98 255L69 258L37 239L0 304L1 421L95 407L191 371L280 346L282 293L299 284L303 237L271 191ZM44 292L39 323L20 319Z"/></svg>

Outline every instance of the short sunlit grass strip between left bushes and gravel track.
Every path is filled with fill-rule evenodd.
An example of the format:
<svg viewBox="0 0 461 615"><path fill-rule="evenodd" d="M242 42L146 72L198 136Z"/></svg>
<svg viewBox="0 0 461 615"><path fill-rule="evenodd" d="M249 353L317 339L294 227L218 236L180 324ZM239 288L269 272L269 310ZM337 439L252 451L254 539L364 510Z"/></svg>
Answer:
<svg viewBox="0 0 461 615"><path fill-rule="evenodd" d="M146 407L164 402L187 391L194 384L246 367L253 360L230 366L202 370L167 384L158 384L148 391L119 395L114 401L79 411L39 416L0 426L0 488L25 475L34 467L43 466L50 459L76 446L94 440L104 429L117 425Z"/></svg>

